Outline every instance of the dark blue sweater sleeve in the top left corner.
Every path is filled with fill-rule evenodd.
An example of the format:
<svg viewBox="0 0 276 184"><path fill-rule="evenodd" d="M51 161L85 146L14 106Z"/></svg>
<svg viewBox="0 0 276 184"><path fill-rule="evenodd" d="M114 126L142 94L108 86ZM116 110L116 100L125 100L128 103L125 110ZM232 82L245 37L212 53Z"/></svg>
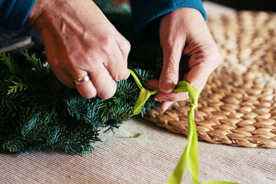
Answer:
<svg viewBox="0 0 276 184"><path fill-rule="evenodd" d="M0 27L19 29L27 20L35 0L0 0Z"/></svg>

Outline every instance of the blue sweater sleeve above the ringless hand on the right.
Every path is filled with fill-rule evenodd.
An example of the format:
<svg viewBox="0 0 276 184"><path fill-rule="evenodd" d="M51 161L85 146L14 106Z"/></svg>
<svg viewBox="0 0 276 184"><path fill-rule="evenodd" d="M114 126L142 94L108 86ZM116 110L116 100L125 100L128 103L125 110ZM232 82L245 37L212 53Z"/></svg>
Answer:
<svg viewBox="0 0 276 184"><path fill-rule="evenodd" d="M131 0L135 30L143 32L150 21L178 8L195 8L206 20L206 12L201 0Z"/></svg>

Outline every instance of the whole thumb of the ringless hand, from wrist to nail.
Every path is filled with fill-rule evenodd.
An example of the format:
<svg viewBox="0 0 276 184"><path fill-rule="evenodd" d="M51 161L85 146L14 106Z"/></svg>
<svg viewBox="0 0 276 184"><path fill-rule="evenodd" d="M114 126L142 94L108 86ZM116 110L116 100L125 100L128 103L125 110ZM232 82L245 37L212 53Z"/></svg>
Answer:
<svg viewBox="0 0 276 184"><path fill-rule="evenodd" d="M179 81L179 63L186 42L186 28L175 11L165 14L159 24L159 37L163 50L163 68L159 90L169 93Z"/></svg>

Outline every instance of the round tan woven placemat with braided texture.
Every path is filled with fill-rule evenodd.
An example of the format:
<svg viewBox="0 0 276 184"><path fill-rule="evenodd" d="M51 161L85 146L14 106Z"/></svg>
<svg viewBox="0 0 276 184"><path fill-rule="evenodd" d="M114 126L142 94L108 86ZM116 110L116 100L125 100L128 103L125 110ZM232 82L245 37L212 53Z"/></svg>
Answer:
<svg viewBox="0 0 276 184"><path fill-rule="evenodd" d="M223 62L199 96L199 139L244 147L276 148L276 14L233 12L208 17ZM146 119L187 134L188 101Z"/></svg>

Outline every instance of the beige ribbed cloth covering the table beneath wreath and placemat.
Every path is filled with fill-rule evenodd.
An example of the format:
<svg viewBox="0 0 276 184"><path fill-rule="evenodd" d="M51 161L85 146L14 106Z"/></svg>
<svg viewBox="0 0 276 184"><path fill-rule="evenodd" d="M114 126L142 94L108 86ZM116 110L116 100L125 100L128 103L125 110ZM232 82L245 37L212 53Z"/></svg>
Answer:
<svg viewBox="0 0 276 184"><path fill-rule="evenodd" d="M204 6L209 14L232 11ZM185 136L139 117L101 139L84 156L53 150L0 154L0 183L166 183L186 145ZM276 149L199 142L199 180L276 183ZM188 170L182 183L192 183Z"/></svg>

